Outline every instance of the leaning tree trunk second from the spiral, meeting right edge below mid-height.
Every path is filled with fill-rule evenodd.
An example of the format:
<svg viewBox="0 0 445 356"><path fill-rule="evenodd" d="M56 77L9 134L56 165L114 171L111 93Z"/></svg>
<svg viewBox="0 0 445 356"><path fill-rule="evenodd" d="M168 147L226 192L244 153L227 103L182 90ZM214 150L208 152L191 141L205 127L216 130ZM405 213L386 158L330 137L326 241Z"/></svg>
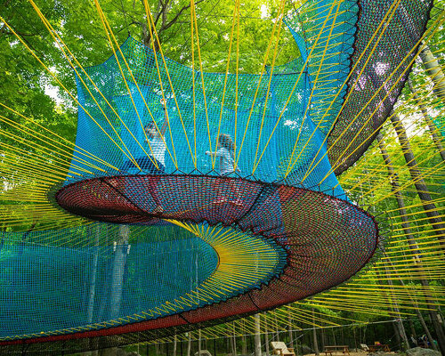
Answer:
<svg viewBox="0 0 445 356"><path fill-rule="evenodd" d="M433 198L431 198L428 188L426 187L425 180L422 178L422 174L417 167L417 160L414 157L413 151L411 150L407 132L401 123L401 119L394 114L391 116L391 121L395 132L399 137L401 150L407 162L411 179L416 186L417 195L420 198L422 206L424 206L425 209L425 214L428 216L429 222L436 233L436 238L439 239L441 249L443 252L445 252L445 224L443 223L440 214L437 212L437 207L433 203Z"/></svg>

